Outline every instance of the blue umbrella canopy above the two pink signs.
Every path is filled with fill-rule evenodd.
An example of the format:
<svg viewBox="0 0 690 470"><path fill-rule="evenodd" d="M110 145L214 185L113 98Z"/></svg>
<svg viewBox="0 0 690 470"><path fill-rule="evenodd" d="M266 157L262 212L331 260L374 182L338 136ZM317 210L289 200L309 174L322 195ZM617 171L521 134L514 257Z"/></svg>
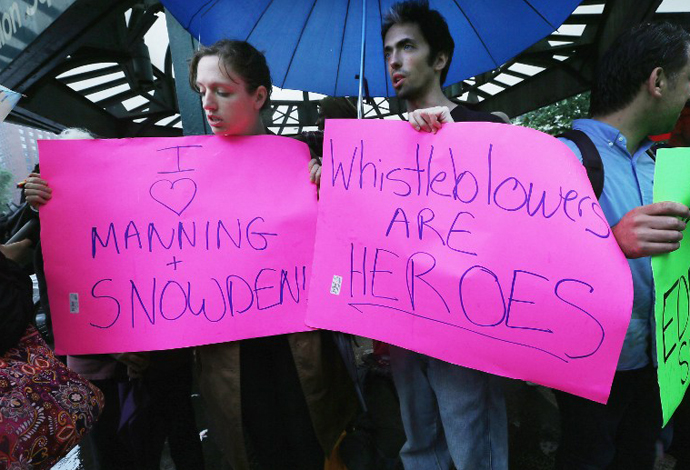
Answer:
<svg viewBox="0 0 690 470"><path fill-rule="evenodd" d="M366 1L366 5L362 2ZM455 40L446 84L494 69L552 33L581 0L431 0ZM241 39L266 54L276 86L331 96L358 93L362 16L371 96L392 96L381 41L395 0L162 0L202 44Z"/></svg>

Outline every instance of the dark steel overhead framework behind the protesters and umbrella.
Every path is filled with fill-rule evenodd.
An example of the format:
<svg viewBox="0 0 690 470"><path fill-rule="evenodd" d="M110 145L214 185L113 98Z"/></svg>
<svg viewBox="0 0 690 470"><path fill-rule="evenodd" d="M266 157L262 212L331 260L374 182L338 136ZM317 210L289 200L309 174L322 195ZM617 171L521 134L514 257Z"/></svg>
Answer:
<svg viewBox="0 0 690 470"><path fill-rule="evenodd" d="M598 58L630 25L668 19L690 29L687 2L673 13L657 12L661 3L585 0L558 32L446 93L515 117L585 91ZM144 37L162 16L157 0L0 0L0 84L27 96L8 120L50 131L86 127L102 137L208 133L186 80L197 44L170 15L168 37L157 38L163 48L169 39L165 60L152 64ZM265 116L271 130L293 134L315 124L317 96L277 96ZM403 117L395 98L365 102L365 118Z"/></svg>

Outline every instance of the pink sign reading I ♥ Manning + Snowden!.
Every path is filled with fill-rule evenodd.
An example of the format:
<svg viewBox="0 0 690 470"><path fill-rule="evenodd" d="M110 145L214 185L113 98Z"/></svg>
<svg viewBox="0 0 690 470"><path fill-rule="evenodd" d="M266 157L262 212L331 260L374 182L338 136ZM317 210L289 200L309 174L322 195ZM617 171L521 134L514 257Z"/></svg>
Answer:
<svg viewBox="0 0 690 470"><path fill-rule="evenodd" d="M316 190L291 139L41 141L61 354L304 331Z"/></svg>

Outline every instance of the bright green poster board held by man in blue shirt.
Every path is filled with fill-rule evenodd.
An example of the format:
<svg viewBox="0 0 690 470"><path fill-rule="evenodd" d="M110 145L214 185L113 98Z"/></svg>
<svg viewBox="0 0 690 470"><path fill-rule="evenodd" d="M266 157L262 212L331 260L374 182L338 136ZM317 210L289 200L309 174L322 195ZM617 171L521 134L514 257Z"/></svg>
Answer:
<svg viewBox="0 0 690 470"><path fill-rule="evenodd" d="M654 202L690 206L690 148L661 149L654 172ZM690 383L690 231L680 248L652 257L656 352L664 426Z"/></svg>

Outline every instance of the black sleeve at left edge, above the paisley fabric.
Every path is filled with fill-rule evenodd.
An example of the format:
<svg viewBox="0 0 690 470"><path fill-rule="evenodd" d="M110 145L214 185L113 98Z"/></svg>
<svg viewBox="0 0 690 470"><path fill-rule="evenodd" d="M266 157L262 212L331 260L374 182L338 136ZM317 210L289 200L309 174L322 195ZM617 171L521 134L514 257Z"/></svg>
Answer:
<svg viewBox="0 0 690 470"><path fill-rule="evenodd" d="M0 253L0 355L26 331L34 311L32 292L31 278Z"/></svg>

